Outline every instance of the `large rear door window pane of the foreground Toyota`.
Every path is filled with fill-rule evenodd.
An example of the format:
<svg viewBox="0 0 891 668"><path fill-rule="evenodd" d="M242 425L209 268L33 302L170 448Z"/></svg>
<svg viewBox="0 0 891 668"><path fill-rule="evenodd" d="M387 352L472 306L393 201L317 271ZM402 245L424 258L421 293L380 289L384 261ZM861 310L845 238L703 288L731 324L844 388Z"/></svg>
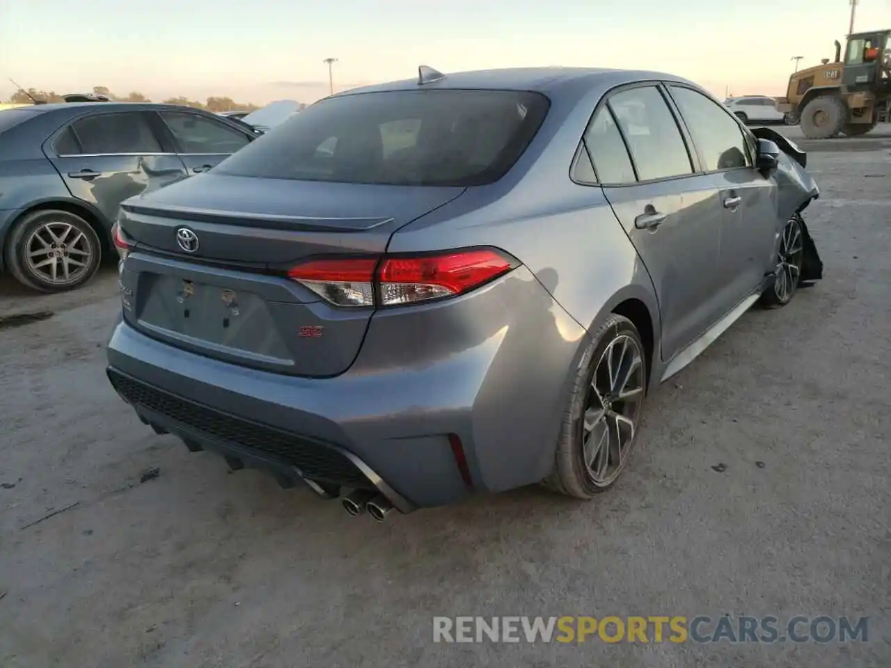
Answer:
<svg viewBox="0 0 891 668"><path fill-rule="evenodd" d="M609 97L608 103L641 181L693 173L681 131L658 88L619 91Z"/></svg>

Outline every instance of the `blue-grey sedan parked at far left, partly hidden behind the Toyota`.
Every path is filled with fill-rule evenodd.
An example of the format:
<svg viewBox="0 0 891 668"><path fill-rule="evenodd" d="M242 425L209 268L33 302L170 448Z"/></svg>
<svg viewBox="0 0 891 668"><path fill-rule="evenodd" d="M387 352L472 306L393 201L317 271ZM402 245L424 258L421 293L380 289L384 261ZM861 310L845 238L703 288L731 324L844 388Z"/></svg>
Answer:
<svg viewBox="0 0 891 668"><path fill-rule="evenodd" d="M0 111L0 270L31 288L78 288L114 253L123 200L205 172L256 137L208 111L99 102Z"/></svg>

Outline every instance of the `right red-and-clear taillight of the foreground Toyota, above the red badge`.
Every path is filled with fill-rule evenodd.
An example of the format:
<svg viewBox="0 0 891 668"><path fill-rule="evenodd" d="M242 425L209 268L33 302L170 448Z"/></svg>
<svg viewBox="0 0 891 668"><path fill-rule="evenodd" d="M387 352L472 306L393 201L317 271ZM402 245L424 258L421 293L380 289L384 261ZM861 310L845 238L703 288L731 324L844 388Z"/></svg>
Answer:
<svg viewBox="0 0 891 668"><path fill-rule="evenodd" d="M310 260L290 278L331 304L372 306L414 304L454 297L476 289L516 263L491 248L470 248L422 256ZM377 271L375 271L377 270Z"/></svg>

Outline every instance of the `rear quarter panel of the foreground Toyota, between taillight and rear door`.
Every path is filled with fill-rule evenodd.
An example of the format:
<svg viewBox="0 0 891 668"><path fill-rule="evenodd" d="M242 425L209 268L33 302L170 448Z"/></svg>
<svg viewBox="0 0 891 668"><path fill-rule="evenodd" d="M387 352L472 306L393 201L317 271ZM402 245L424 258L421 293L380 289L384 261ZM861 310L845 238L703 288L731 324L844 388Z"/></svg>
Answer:
<svg viewBox="0 0 891 668"><path fill-rule="evenodd" d="M605 92L552 98L544 125L507 175L470 188L405 226L393 235L388 251L503 248L585 330L595 329L624 299L640 299L650 310L658 344L658 306L649 273L601 188L569 177L584 129Z"/></svg>

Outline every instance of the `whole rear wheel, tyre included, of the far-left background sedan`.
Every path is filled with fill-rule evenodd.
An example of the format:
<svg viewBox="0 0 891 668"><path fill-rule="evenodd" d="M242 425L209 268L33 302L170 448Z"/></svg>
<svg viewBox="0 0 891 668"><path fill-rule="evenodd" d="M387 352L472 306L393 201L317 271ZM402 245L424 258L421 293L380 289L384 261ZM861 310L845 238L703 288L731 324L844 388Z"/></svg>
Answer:
<svg viewBox="0 0 891 668"><path fill-rule="evenodd" d="M93 227L68 211L43 209L23 216L6 244L10 273L29 288L64 292L89 281L102 245Z"/></svg>

